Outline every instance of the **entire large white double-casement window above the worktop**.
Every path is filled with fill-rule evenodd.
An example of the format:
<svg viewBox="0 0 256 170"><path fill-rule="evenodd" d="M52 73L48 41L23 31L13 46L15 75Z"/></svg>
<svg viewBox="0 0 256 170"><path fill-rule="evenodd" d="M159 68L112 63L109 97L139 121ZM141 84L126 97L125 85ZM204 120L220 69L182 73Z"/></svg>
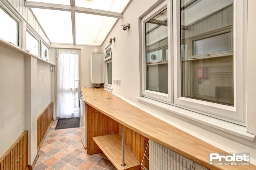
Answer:
<svg viewBox="0 0 256 170"><path fill-rule="evenodd" d="M142 18L142 95L245 126L247 1L217 1L164 1ZM159 66L166 57L152 62L161 52L150 49L147 33L152 30L147 30L146 23L165 25L154 17L166 8L168 26L166 30L158 28L157 36L168 32L168 48L162 53L166 56L168 52L168 69L161 70L161 75L168 73L168 93L157 84L155 89L147 85L147 72L152 71L148 65ZM158 38L154 43L161 41ZM157 77L155 83L163 82L159 68L150 74Z"/></svg>

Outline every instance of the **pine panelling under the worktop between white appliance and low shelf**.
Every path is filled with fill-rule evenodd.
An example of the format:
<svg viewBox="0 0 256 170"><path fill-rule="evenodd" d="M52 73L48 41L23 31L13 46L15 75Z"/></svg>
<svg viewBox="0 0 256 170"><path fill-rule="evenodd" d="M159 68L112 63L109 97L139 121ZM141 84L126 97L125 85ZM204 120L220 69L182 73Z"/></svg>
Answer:
<svg viewBox="0 0 256 170"><path fill-rule="evenodd" d="M118 133L118 122L86 105L87 116L87 154L101 152L100 148L93 141L93 137Z"/></svg>

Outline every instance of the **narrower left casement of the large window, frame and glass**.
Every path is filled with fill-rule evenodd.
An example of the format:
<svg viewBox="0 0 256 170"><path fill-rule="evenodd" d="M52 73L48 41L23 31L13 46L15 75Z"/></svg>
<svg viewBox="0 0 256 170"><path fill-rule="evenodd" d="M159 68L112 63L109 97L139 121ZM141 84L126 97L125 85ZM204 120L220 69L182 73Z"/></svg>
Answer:
<svg viewBox="0 0 256 170"><path fill-rule="evenodd" d="M172 4L164 1L141 20L142 94L172 103Z"/></svg>

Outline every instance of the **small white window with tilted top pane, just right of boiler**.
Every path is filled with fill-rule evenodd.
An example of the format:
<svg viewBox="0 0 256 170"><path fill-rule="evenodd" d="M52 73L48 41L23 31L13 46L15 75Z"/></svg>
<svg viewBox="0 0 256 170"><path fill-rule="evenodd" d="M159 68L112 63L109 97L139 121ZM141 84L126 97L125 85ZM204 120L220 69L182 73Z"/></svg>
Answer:
<svg viewBox="0 0 256 170"><path fill-rule="evenodd" d="M104 56L104 67L105 67L105 86L112 89L112 49L111 44L105 48Z"/></svg>

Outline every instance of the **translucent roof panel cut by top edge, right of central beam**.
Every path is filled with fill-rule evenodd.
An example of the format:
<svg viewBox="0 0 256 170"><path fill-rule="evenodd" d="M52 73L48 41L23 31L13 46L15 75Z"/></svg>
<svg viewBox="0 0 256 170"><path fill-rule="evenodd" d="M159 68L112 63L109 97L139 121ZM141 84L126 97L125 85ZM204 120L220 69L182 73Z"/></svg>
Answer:
<svg viewBox="0 0 256 170"><path fill-rule="evenodd" d="M130 0L76 0L76 6L112 12L123 12Z"/></svg>

